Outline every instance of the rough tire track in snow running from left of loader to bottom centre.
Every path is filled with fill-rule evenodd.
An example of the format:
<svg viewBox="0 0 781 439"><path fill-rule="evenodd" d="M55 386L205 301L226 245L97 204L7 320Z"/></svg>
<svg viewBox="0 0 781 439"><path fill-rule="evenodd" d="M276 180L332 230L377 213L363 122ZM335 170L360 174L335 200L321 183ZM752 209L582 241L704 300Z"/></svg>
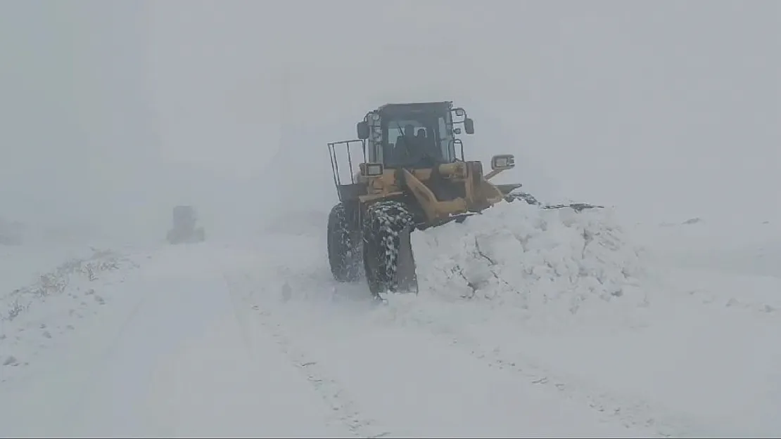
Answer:
<svg viewBox="0 0 781 439"><path fill-rule="evenodd" d="M250 315L257 317L259 325L273 338L280 352L287 357L294 367L301 371L301 374L305 375L313 390L330 407L336 420L347 427L352 434L355 434L357 437L385 437L391 434L389 430L380 427L376 420L366 416L359 409L358 404L350 398L344 386L337 380L329 377L326 371L323 370L323 367L319 366L317 359L313 358L305 350L298 349L285 333L282 324L276 321L273 313L269 310L262 310L258 305L248 303L248 295L246 293L249 285L251 285L251 279L248 274L244 274L241 281L227 274L224 275L224 278L231 296L230 300L234 303L236 318L244 336L244 344L251 351L253 358L255 358L255 354L250 344L251 332L248 331L248 322L241 317L241 310L255 311Z"/></svg>

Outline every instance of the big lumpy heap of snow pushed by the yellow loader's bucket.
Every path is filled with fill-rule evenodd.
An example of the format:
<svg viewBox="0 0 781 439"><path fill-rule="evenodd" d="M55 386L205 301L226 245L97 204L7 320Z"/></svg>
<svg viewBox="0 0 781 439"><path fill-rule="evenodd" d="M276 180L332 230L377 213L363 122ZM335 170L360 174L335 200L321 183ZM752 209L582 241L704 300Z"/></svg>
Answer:
<svg viewBox="0 0 781 439"><path fill-rule="evenodd" d="M501 203L415 232L412 247L420 296L556 315L647 305L642 251L610 209Z"/></svg>

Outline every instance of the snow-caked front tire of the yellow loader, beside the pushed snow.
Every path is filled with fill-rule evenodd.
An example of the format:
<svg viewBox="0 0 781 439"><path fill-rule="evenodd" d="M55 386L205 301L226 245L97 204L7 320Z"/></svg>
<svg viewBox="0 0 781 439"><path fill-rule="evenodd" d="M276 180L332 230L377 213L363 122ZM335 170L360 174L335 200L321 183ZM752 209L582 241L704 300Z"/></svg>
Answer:
<svg viewBox="0 0 781 439"><path fill-rule="evenodd" d="M380 292L398 292L399 254L408 252L412 255L410 240L402 239L402 235L412 232L415 226L412 218L408 207L398 201L378 201L366 209L363 221L363 264L369 291L375 297ZM408 235L405 237L408 238ZM417 291L414 261L412 284Z"/></svg>

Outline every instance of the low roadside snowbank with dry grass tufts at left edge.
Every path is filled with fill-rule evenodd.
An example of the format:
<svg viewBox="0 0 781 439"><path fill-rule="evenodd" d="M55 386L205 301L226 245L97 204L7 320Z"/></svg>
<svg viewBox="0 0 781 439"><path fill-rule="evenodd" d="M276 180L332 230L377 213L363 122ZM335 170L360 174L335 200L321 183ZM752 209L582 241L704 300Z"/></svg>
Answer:
<svg viewBox="0 0 781 439"><path fill-rule="evenodd" d="M113 272L136 266L116 253L96 250L91 257L68 260L41 274L30 285L0 292L0 367L27 364L35 349L96 313L108 300L104 287L122 281Z"/></svg>

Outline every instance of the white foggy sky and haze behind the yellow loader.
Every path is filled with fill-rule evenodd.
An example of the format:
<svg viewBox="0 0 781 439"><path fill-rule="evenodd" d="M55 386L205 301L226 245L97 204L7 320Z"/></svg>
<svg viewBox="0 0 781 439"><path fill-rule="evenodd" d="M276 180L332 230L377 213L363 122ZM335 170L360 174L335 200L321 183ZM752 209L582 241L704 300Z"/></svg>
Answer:
<svg viewBox="0 0 781 439"><path fill-rule="evenodd" d="M160 239L194 204L255 232L335 202L326 142L367 111L430 100L535 193L779 218L779 29L759 0L5 0L0 218Z"/></svg>

